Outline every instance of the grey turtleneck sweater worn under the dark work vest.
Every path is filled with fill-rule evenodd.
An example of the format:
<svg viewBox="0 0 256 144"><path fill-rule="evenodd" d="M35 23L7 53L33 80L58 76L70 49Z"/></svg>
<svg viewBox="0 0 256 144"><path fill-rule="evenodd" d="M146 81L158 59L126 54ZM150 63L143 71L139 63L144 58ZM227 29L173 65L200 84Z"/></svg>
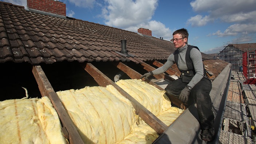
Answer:
<svg viewBox="0 0 256 144"><path fill-rule="evenodd" d="M186 64L186 61L185 61L187 48L188 48L188 45L186 44L183 48L178 49L178 51L179 51L178 65L179 65L179 69L181 71L188 70L187 64ZM191 51L190 51L190 57L192 59L193 66L195 68L196 74L192 78L192 80L188 83L188 86L193 88L203 78L204 68L203 68L202 55L201 55L201 52L198 49L192 48ZM175 60L174 60L174 55L172 53L168 57L167 62L162 67L159 67L159 68L155 69L154 71L152 71L153 75L158 75L158 74L161 74L161 73L167 71L167 69L172 67L172 65L174 63L175 63Z"/></svg>

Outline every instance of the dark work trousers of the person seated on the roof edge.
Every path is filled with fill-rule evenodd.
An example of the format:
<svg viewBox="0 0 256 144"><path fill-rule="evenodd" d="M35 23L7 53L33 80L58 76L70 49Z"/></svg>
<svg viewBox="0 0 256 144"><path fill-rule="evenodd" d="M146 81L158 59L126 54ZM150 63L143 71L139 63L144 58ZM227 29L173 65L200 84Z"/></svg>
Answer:
<svg viewBox="0 0 256 144"><path fill-rule="evenodd" d="M172 81L167 85L165 91L173 96L179 96L183 88L188 83L183 83L182 79ZM188 104L195 100L197 113L199 115L201 129L213 128L214 115L212 112L212 100L209 95L212 89L212 82L203 77L191 90L188 98Z"/></svg>

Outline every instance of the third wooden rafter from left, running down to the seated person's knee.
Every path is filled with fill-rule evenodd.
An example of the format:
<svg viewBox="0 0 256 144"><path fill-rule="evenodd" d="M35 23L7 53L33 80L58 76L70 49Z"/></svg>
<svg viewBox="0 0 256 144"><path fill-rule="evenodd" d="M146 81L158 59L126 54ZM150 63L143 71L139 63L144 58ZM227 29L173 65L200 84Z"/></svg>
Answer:
<svg viewBox="0 0 256 144"><path fill-rule="evenodd" d="M116 65L117 68L119 68L121 71L123 71L124 73L126 73L129 77L131 77L131 79L140 79L140 77L142 76L139 72L135 71L134 69L128 67L127 65L119 62L117 65ZM160 90L164 90L163 88L161 88L159 85L153 83L151 80L149 79L142 79L143 81L155 86L156 88L160 89ZM179 99L177 99L177 97L175 96L172 96L172 95L168 95L167 96L169 97L171 103L173 103L174 105L176 105L177 107L181 108L181 109L186 109L186 105L180 101Z"/></svg>

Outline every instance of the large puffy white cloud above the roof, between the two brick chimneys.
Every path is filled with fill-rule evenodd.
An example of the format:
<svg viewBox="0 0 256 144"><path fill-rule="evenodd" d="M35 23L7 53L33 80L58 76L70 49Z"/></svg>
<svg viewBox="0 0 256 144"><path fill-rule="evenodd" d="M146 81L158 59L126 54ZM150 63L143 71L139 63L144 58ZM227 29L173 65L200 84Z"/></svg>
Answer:
<svg viewBox="0 0 256 144"><path fill-rule="evenodd" d="M159 21L151 20L157 8L158 0L105 0L107 6L102 10L105 24L137 32L138 28L147 28L152 36L170 40L172 31Z"/></svg>

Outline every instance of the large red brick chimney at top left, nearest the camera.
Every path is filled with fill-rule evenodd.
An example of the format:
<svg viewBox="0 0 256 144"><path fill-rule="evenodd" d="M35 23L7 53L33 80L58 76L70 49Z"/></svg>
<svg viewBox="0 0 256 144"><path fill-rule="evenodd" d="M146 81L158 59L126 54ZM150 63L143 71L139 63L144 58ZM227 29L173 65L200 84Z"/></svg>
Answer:
<svg viewBox="0 0 256 144"><path fill-rule="evenodd" d="M27 0L28 9L66 17L66 4L55 0Z"/></svg>

